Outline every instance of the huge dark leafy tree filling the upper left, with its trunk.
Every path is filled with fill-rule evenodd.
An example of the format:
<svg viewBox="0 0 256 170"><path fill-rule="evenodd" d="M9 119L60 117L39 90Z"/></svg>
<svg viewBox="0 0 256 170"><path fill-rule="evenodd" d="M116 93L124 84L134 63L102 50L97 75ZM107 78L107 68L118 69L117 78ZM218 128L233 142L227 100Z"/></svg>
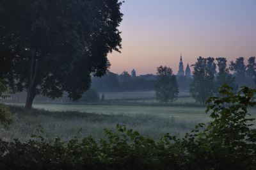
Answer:
<svg viewBox="0 0 256 170"><path fill-rule="evenodd" d="M0 1L0 78L12 92L77 100L121 48L118 0Z"/></svg>

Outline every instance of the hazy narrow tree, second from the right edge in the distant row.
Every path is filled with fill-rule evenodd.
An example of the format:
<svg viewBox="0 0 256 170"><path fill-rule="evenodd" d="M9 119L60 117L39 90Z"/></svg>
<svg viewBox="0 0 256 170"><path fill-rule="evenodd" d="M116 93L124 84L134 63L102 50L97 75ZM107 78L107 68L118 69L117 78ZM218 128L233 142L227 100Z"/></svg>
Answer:
<svg viewBox="0 0 256 170"><path fill-rule="evenodd" d="M231 61L230 70L234 72L236 84L239 86L247 85L246 83L246 66L244 65L244 58L237 58L236 62Z"/></svg>

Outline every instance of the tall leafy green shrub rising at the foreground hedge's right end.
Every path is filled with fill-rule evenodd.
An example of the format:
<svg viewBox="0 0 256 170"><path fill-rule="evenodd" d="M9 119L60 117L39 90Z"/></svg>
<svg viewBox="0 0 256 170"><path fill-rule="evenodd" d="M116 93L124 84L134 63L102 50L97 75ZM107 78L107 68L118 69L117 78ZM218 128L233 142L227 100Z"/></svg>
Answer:
<svg viewBox="0 0 256 170"><path fill-rule="evenodd" d="M237 95L225 84L220 97L207 100L207 112L213 119L205 130L198 132L199 124L186 135L186 146L193 155L193 161L202 169L255 169L256 129L254 119L248 118L247 108L255 107L253 99L256 90L241 88ZM207 165L205 164L207 162Z"/></svg>

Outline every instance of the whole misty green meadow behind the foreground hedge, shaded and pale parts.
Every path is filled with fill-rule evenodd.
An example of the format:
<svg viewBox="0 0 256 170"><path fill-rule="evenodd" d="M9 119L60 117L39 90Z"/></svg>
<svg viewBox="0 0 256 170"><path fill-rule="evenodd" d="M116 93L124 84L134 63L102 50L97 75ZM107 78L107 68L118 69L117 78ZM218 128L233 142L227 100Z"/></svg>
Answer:
<svg viewBox="0 0 256 170"><path fill-rule="evenodd" d="M12 112L17 113L17 121L10 129L2 129L0 138L10 140L18 137L26 141L40 124L49 139L59 136L68 140L78 134L79 128L83 129L79 135L92 135L99 139L104 137L104 127L114 129L118 123L154 139L166 133L182 137L196 123L210 120L203 107L61 104L35 104L33 107L36 109L26 112L22 107L11 106ZM249 110L256 118L256 109Z"/></svg>

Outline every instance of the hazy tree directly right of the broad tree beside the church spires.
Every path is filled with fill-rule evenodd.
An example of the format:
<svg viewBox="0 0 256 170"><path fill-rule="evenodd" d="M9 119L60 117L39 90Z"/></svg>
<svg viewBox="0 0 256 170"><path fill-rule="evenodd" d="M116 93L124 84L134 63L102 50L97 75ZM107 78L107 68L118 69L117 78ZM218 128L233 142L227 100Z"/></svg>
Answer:
<svg viewBox="0 0 256 170"><path fill-rule="evenodd" d="M220 88L223 84L227 84L233 89L233 91L236 91L237 86L235 84L235 77L229 73L227 68L227 59L216 58L216 61L218 62L217 65L219 68L219 72L216 75L216 88Z"/></svg>

